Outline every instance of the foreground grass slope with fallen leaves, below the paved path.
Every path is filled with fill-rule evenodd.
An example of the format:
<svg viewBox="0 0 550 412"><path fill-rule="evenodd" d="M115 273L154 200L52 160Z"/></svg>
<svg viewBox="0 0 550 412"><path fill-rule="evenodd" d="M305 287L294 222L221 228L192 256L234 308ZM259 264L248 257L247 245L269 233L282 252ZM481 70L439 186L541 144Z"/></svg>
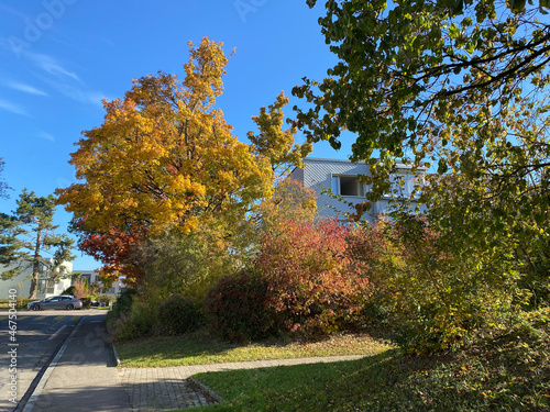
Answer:
<svg viewBox="0 0 550 412"><path fill-rule="evenodd" d="M455 354L389 349L354 361L196 375L208 411L550 411L550 311Z"/></svg>

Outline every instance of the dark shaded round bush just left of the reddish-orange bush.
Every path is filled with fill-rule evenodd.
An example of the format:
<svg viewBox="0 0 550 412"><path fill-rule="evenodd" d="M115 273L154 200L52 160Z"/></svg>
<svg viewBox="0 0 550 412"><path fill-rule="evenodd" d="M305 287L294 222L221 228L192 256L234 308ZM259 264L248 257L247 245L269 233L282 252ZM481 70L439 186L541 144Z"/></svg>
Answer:
<svg viewBox="0 0 550 412"><path fill-rule="evenodd" d="M251 275L229 276L205 300L210 327L231 342L275 336L278 318L267 307L267 283Z"/></svg>

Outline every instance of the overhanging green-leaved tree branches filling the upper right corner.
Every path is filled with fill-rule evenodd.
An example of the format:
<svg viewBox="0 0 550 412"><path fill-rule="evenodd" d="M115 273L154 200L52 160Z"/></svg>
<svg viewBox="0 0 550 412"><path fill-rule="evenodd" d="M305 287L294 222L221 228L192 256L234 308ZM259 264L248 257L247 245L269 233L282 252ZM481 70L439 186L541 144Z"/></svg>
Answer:
<svg viewBox="0 0 550 412"><path fill-rule="evenodd" d="M338 148L344 130L354 133L352 159L372 166L370 200L387 192L396 158L433 165L419 200L449 238L546 245L548 4L329 0L326 8L321 31L340 62L322 81L293 90L312 103L296 108L308 140Z"/></svg>

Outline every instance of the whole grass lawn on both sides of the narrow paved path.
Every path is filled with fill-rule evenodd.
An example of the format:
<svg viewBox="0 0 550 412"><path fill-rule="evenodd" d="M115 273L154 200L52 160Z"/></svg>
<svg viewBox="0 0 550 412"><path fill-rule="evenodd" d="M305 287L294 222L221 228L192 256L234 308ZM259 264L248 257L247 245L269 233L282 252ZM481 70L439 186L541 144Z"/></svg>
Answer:
<svg viewBox="0 0 550 412"><path fill-rule="evenodd" d="M185 411L550 411L550 309L480 335L466 349L407 356L367 336L237 346L185 338L119 344L124 366L371 354L353 361L198 374L223 402Z"/></svg>

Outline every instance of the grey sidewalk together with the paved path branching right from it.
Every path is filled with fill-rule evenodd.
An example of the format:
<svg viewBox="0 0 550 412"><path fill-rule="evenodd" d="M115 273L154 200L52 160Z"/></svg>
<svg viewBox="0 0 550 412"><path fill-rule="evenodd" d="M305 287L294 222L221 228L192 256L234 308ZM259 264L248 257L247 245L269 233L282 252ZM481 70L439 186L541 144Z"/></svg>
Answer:
<svg viewBox="0 0 550 412"><path fill-rule="evenodd" d="M165 368L117 367L105 316L85 316L16 412L168 411L220 401L195 374L359 359L362 356L257 360Z"/></svg>

